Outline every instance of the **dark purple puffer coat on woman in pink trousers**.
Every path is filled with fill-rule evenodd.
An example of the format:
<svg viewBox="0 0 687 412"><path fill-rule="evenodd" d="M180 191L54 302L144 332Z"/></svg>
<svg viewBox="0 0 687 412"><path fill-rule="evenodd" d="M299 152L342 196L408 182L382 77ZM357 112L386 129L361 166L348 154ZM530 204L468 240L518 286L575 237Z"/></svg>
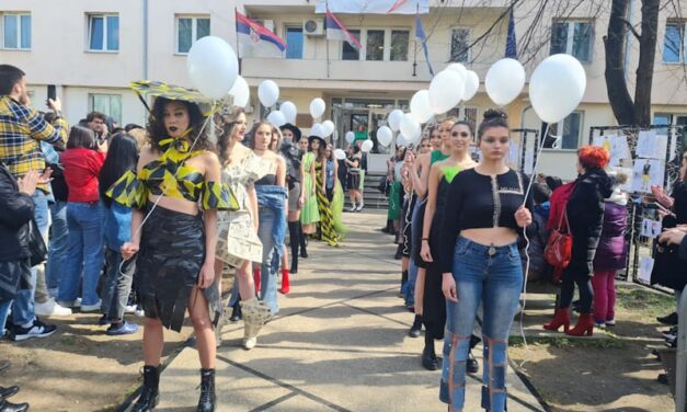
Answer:
<svg viewBox="0 0 687 412"><path fill-rule="evenodd" d="M595 272L625 268L628 248L625 232L628 228L628 198L616 188L604 205L604 228L594 258Z"/></svg>

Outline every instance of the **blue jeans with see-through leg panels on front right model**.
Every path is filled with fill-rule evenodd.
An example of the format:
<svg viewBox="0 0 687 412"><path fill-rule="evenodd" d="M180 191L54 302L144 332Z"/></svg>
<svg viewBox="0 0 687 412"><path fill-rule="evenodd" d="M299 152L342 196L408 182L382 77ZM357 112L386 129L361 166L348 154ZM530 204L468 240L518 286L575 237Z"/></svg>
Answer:
<svg viewBox="0 0 687 412"><path fill-rule="evenodd" d="M491 254L490 254L491 250ZM466 362L480 302L483 307L484 367L482 408L504 411L508 368L508 331L523 287L517 244L490 248L463 237L456 241L454 279L458 302L446 300L444 367L439 399L461 410L465 403Z"/></svg>

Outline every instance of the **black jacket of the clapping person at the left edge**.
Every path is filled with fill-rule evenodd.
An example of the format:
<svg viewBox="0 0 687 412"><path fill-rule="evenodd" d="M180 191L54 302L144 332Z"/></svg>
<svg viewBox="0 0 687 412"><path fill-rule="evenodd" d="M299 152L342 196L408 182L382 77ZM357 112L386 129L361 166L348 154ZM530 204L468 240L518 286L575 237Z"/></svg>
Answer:
<svg viewBox="0 0 687 412"><path fill-rule="evenodd" d="M31 196L21 193L16 180L0 163L0 261L28 258L28 221L34 216Z"/></svg>

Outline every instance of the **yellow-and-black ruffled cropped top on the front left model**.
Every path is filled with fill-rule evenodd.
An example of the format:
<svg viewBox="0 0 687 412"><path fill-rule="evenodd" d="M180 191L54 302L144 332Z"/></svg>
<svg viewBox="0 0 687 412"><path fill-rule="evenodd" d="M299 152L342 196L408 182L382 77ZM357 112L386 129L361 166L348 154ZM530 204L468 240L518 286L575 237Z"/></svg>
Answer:
<svg viewBox="0 0 687 412"><path fill-rule="evenodd" d="M201 204L205 210L238 210L239 203L228 185L206 182L201 172L185 161L204 150L190 150L184 139L163 139L162 156L138 173L127 171L105 193L114 202L137 209L146 208L149 195L168 196Z"/></svg>

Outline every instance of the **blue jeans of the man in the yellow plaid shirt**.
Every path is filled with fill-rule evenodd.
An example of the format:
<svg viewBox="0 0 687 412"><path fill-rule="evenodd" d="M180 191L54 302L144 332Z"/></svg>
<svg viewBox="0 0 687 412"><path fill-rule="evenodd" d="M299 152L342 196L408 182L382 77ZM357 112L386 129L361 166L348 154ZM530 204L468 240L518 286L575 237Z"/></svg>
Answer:
<svg viewBox="0 0 687 412"><path fill-rule="evenodd" d="M41 230L41 234L43 239L47 240L48 237L48 198L47 195L37 190L33 195L33 203L35 205L34 217L36 218L36 224L38 225L38 230ZM38 270L33 267L31 270L31 288L20 290L14 298L14 302L12 304L12 321L14 324L28 324L33 322L36 317L35 313L35 295L36 295L36 281L38 277ZM45 279L43 281L42 294L47 296L47 290L45 289ZM47 299L47 297L46 297ZM44 299L44 300L46 300Z"/></svg>

